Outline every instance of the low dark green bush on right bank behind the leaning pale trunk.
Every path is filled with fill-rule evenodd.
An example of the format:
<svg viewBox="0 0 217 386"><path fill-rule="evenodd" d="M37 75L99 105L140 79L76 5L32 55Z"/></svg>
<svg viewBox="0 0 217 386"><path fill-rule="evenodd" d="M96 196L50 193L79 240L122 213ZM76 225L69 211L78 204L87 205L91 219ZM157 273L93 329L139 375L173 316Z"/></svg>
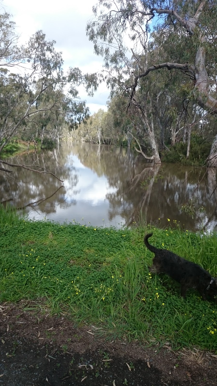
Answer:
<svg viewBox="0 0 217 386"><path fill-rule="evenodd" d="M190 142L190 155L186 159L187 143L178 142L170 151L163 153L161 161L180 163L183 165L203 166L209 155L212 143L203 139L202 136L193 134Z"/></svg>

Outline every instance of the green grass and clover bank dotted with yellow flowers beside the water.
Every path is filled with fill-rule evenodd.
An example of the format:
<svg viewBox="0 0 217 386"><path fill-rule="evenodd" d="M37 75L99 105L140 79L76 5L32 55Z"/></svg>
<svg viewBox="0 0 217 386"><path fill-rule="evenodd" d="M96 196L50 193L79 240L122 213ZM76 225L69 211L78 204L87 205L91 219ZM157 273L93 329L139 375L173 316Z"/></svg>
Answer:
<svg viewBox="0 0 217 386"><path fill-rule="evenodd" d="M0 301L46 298L53 313L76 324L103 327L107 337L138 339L173 349L197 345L217 351L217 305L170 278L150 274L153 254L143 244L168 248L217 276L216 235L150 226L116 230L31 222L0 209ZM100 331L100 330L99 330Z"/></svg>

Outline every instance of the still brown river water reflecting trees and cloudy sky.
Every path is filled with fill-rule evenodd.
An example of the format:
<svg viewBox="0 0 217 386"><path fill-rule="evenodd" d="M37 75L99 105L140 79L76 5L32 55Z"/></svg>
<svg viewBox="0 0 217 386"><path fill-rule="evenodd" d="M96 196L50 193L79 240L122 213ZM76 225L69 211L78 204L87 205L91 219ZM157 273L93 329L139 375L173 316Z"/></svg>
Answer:
<svg viewBox="0 0 217 386"><path fill-rule="evenodd" d="M17 168L0 172L0 201L26 207L31 218L47 217L92 225L137 221L140 210L148 222L208 230L217 224L215 171L176 164L151 166L127 148L64 143L59 149L13 157L13 163L41 165L63 179ZM192 201L195 213L181 211ZM160 220L158 220L160 218Z"/></svg>

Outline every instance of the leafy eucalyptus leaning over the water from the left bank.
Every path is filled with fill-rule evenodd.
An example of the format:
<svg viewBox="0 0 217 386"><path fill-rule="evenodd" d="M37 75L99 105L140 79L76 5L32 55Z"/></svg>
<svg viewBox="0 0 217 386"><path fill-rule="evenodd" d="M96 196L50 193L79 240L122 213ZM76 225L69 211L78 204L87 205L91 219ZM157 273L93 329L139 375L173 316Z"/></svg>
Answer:
<svg viewBox="0 0 217 386"><path fill-rule="evenodd" d="M0 152L34 116L41 114L47 120L49 112L58 110L58 90L65 93L66 86L68 93L63 104L69 125L78 125L87 115L76 86L86 84L91 95L94 76L82 75L78 68L70 68L64 74L61 52L54 45L55 41L46 40L39 30L20 46L10 15L0 15ZM49 93L52 96L47 98Z"/></svg>

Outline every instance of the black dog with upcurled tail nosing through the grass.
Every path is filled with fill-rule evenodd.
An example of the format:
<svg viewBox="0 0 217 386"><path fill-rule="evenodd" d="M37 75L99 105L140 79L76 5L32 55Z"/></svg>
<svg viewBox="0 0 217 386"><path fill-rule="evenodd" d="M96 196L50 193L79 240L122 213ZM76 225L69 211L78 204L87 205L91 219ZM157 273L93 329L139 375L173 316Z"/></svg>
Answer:
<svg viewBox="0 0 217 386"><path fill-rule="evenodd" d="M148 238L152 235L153 233L149 233L144 237L146 247L155 254L151 272L164 273L178 281L181 284L183 298L189 288L197 289L203 300L217 296L217 278L212 278L205 269L173 252L150 245Z"/></svg>

